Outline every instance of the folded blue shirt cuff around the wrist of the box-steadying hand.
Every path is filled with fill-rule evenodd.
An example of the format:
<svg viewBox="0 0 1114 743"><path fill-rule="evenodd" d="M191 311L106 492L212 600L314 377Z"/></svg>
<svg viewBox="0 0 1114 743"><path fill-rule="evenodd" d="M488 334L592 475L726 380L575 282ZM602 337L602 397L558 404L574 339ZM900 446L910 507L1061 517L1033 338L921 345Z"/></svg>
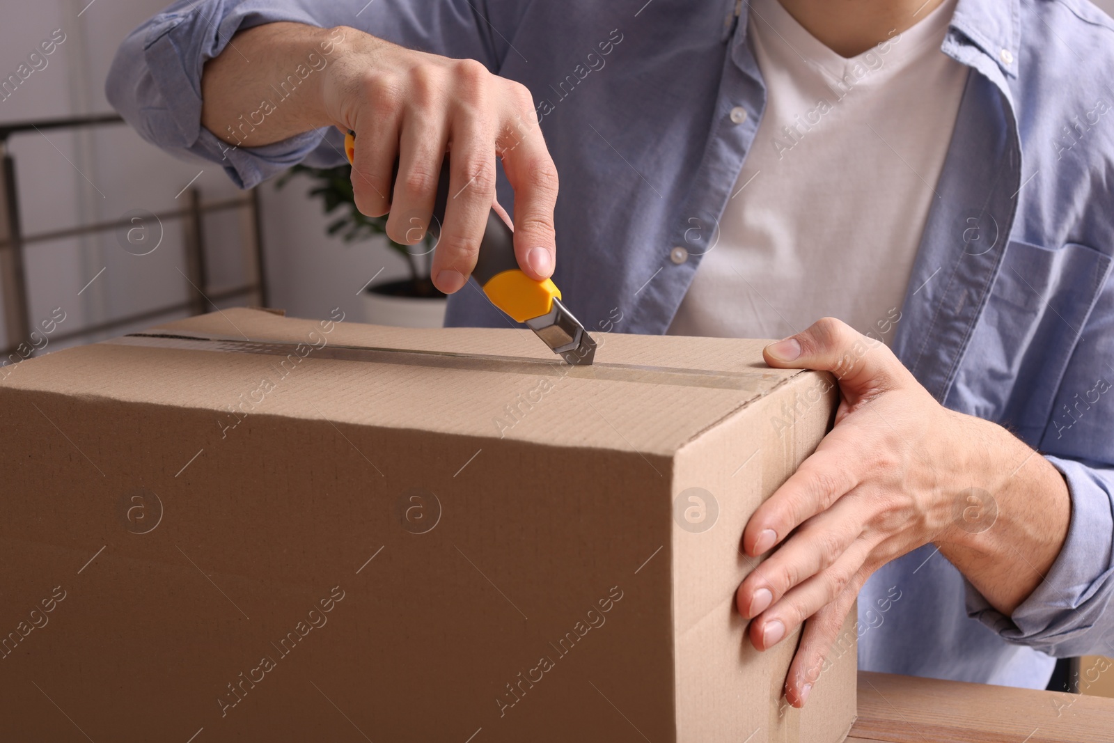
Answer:
<svg viewBox="0 0 1114 743"><path fill-rule="evenodd" d="M1110 654L1114 614L1103 614L1114 593L1114 472L1045 457L1067 481L1072 517L1067 538L1048 575L1007 617L966 578L967 615L1003 639L1059 657Z"/></svg>

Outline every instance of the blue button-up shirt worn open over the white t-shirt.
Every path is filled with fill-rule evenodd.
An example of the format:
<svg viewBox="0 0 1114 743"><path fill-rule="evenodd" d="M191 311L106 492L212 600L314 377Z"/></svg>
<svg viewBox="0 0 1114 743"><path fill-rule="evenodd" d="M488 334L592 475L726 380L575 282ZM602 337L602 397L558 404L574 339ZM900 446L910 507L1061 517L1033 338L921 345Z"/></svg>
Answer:
<svg viewBox="0 0 1114 743"><path fill-rule="evenodd" d="M763 113L742 10L182 1L127 38L108 98L149 141L251 187L297 162L340 164L343 148L317 130L228 149L201 126L202 65L237 30L356 26L478 59L534 94L563 184L554 280L568 306L589 329L663 333L711 232L692 221L716 224ZM1114 652L1114 23L1085 0L959 0L941 50L970 71L893 350L941 403L1037 448L1067 481L1071 526L1008 617L930 545L890 563L860 595L859 656L867 669L1043 687L1046 654ZM505 179L499 198L510 208ZM505 322L479 292L450 300L449 324Z"/></svg>

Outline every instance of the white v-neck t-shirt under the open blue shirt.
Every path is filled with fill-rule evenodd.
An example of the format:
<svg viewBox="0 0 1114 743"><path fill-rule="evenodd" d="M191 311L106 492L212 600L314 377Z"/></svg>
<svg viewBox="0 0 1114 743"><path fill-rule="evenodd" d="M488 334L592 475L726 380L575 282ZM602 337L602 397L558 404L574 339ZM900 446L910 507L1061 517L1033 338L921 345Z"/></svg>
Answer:
<svg viewBox="0 0 1114 743"><path fill-rule="evenodd" d="M955 4L846 59L752 0L766 108L671 334L774 339L834 316L890 342L967 80L940 51Z"/></svg>

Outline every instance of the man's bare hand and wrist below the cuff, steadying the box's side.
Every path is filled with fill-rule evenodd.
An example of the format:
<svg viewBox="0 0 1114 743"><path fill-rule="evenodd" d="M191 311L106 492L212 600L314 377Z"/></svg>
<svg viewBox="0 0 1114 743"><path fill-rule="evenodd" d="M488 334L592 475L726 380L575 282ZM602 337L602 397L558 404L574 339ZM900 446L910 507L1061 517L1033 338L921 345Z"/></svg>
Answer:
<svg viewBox="0 0 1114 743"><path fill-rule="evenodd" d="M790 704L804 704L867 578L921 545L936 542L1007 615L1039 584L1069 518L1066 485L1046 459L999 426L940 405L887 346L838 320L764 356L832 372L841 398L832 431L743 532L749 555L780 545L735 596L754 647L804 624Z"/></svg>

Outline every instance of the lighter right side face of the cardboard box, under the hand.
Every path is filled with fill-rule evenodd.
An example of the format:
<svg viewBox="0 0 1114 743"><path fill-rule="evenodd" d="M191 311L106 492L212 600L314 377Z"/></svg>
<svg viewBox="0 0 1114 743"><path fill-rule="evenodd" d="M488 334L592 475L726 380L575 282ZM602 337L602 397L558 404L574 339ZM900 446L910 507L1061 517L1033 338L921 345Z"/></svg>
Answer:
<svg viewBox="0 0 1114 743"><path fill-rule="evenodd" d="M759 502L770 497L815 448L833 407L831 384L795 377L754 400L678 451L674 491L698 487L719 502L715 527L674 528L674 622L682 740L839 741L856 704L856 630L852 612L804 711L782 697L795 638L759 653L745 636L734 590L755 560L740 536ZM726 569L725 566L732 566ZM698 690L698 693L692 693ZM764 698L747 704L745 695ZM714 712L713 712L714 711ZM834 721L843 721L838 729ZM724 736L730 731L730 736Z"/></svg>

